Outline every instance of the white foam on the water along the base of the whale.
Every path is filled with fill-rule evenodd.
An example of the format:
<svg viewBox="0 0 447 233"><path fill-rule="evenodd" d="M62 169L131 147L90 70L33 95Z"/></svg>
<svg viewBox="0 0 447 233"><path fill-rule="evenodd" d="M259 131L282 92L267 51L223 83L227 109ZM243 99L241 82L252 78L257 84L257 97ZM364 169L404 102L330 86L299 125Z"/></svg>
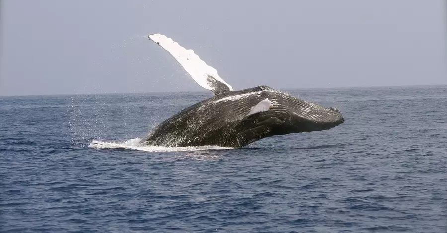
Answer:
<svg viewBox="0 0 447 233"><path fill-rule="evenodd" d="M93 140L88 147L95 149L129 149L146 152L179 152L179 151L202 151L202 150L226 150L233 149L220 146L187 146L187 147L163 147L142 145L141 138L130 139L125 142L102 142Z"/></svg>

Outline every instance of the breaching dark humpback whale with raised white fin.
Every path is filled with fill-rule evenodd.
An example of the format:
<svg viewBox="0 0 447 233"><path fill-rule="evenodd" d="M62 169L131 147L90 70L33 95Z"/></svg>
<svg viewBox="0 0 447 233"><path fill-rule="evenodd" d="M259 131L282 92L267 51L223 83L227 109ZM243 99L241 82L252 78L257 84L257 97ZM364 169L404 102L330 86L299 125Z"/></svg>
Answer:
<svg viewBox="0 0 447 233"><path fill-rule="evenodd" d="M344 122L338 109L306 102L268 86L234 90L193 50L161 34L148 38L214 96L162 121L142 140L146 145L239 148L274 135L321 131Z"/></svg>

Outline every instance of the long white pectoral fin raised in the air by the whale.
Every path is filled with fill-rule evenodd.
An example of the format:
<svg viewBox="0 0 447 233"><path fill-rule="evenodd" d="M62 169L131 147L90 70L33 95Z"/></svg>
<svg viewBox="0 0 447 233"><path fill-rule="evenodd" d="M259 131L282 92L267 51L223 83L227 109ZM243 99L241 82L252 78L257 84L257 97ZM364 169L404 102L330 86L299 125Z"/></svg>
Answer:
<svg viewBox="0 0 447 233"><path fill-rule="evenodd" d="M213 91L216 95L225 91L233 91L217 73L217 70L194 54L193 50L181 47L171 38L161 34L150 34L150 40L169 52L188 72L188 74L203 88Z"/></svg>

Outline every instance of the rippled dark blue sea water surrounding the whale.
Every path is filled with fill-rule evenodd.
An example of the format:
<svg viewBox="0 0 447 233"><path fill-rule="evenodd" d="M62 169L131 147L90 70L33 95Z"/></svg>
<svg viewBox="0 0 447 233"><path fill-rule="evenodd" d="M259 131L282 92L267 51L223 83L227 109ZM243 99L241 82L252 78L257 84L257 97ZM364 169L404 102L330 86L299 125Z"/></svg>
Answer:
<svg viewBox="0 0 447 233"><path fill-rule="evenodd" d="M0 231L447 232L447 87L292 93L345 123L243 149L95 149L210 94L0 97Z"/></svg>

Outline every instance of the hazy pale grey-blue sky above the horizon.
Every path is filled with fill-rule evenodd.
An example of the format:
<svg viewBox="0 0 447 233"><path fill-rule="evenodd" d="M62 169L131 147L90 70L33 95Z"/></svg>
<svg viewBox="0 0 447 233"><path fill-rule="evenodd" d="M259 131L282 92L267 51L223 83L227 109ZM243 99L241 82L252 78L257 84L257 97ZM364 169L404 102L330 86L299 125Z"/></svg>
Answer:
<svg viewBox="0 0 447 233"><path fill-rule="evenodd" d="M235 90L447 84L443 0L1 0L0 96L205 91L147 35Z"/></svg>

